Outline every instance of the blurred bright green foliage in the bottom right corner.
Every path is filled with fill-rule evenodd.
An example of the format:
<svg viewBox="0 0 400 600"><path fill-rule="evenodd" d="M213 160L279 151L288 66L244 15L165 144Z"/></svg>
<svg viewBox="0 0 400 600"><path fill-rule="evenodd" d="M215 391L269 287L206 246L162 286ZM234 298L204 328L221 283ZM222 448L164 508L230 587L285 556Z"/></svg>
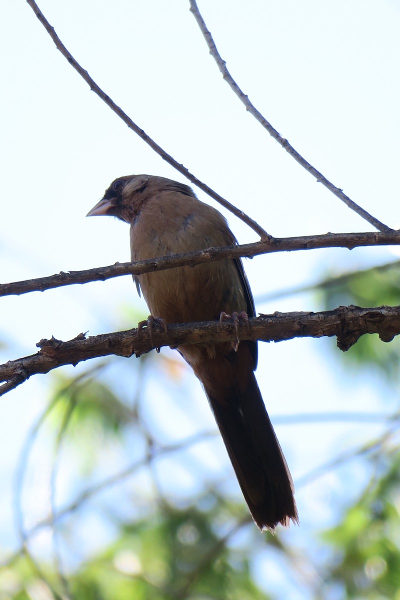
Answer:
<svg viewBox="0 0 400 600"><path fill-rule="evenodd" d="M375 478L324 533L335 552L327 585L345 587L345 598L400 600L400 454L398 446L375 465Z"/></svg>

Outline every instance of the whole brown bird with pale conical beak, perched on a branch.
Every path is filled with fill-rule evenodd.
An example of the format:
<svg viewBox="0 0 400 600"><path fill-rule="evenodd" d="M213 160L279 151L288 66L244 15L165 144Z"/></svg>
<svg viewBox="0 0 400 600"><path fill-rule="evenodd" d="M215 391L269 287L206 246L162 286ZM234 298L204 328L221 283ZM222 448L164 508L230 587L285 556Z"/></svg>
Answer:
<svg viewBox="0 0 400 600"><path fill-rule="evenodd" d="M131 258L237 244L227 221L187 185L151 175L112 182L88 216L112 215L131 226ZM152 316L166 323L254 317L254 301L240 259L181 266L135 277ZM293 482L255 380L257 342L178 348L204 391L229 458L260 529L297 522Z"/></svg>

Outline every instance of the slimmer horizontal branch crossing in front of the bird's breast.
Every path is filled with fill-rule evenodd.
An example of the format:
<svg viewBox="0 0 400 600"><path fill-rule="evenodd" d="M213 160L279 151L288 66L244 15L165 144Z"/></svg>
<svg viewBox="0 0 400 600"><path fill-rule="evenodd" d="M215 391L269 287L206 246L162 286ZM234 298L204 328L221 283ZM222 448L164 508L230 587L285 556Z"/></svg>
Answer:
<svg viewBox="0 0 400 600"><path fill-rule="evenodd" d="M26 281L0 284L0 296L20 295L28 292L44 292L53 287L70 286L104 281L121 275L141 275L150 271L164 271L177 266L194 266L200 263L226 258L252 258L259 254L287 252L294 250L315 250L317 248L353 248L363 246L387 246L400 244L400 231L365 232L365 233L326 233L324 235L297 236L296 238L271 238L266 242L227 246L225 248L207 248L185 254L155 257L135 263L116 263L115 265L87 269L86 271L69 271L48 277L40 277Z"/></svg>

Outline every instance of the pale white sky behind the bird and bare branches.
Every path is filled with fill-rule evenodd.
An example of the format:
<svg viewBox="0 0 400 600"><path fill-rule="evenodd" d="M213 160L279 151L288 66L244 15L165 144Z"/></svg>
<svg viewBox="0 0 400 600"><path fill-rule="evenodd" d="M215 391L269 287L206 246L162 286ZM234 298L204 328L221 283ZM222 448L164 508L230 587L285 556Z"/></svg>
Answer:
<svg viewBox="0 0 400 600"><path fill-rule="evenodd" d="M39 6L74 58L146 133L272 235L372 230L246 113L210 57L188 1L41 0ZM273 127L351 199L399 227L400 4L199 0L199 8L231 74ZM86 213L117 176L184 177L89 90L23 0L2 3L0 47L1 281L129 260L128 227L86 219ZM215 206L200 191L199 197ZM257 239L221 212L240 242ZM314 283L327 271L396 256L391 248L282 253L247 260L245 270L257 299ZM130 277L1 303L0 339L8 344L3 361L34 353L35 343L51 335L68 340L81 331L112 331L121 326L122 305L148 314ZM256 309L320 307L302 295L256 302ZM390 410L394 398L381 402L373 374L348 377L327 355L328 344L260 344L257 377L272 418ZM7 519L14 466L9 457L43 407L44 389L37 376L2 398L0 514ZM193 394L201 397L200 388ZM295 482L326 462L338 443L352 448L379 430L379 424L276 427ZM341 482L333 476L327 481L330 491L315 484L297 494L304 529L293 535L296 541L302 535L305 545L313 519L322 526L333 518L324 498L339 494ZM0 545L9 543L0 539Z"/></svg>

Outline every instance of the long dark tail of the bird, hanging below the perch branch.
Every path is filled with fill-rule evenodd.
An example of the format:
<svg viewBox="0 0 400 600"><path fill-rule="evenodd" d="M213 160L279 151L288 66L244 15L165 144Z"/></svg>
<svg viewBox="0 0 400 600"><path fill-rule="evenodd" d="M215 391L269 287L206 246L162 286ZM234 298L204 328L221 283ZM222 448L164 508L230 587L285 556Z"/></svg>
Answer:
<svg viewBox="0 0 400 600"><path fill-rule="evenodd" d="M290 520L297 522L293 481L245 344L230 358L203 362L197 376L255 523L270 530L278 523L288 526Z"/></svg>

